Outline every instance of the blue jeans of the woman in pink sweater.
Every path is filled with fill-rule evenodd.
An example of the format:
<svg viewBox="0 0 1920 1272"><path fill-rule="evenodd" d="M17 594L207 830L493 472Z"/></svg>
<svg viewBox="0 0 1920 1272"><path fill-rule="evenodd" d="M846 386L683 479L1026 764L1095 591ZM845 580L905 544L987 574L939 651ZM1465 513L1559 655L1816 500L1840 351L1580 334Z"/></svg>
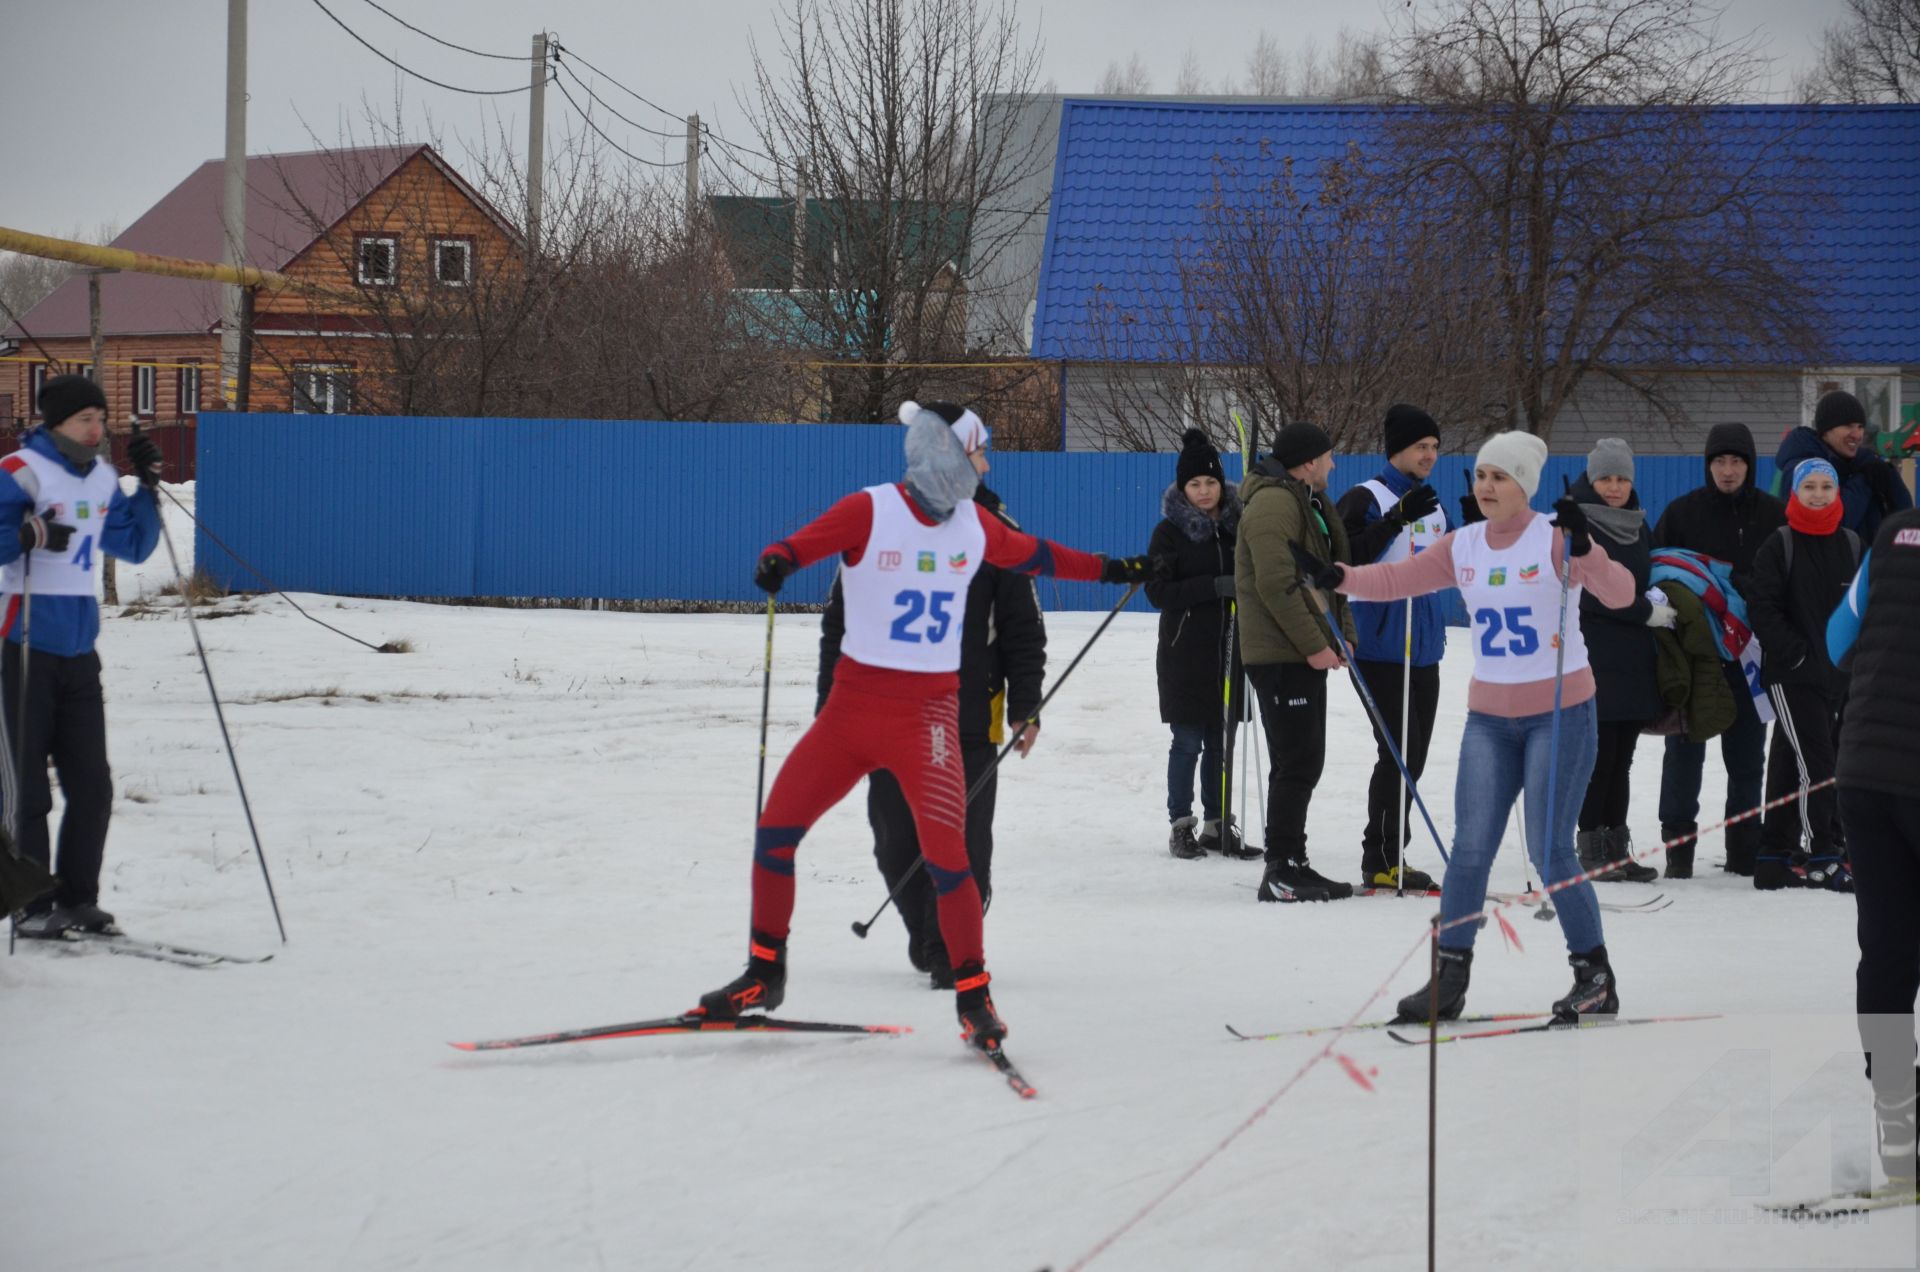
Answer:
<svg viewBox="0 0 1920 1272"><path fill-rule="evenodd" d="M1548 751L1553 713L1507 719L1467 713L1467 732L1459 740L1459 774L1453 780L1453 859L1440 884L1440 918L1463 918L1486 905L1486 874L1500 851L1521 788L1526 790L1526 849L1540 870L1540 882L1572 878L1580 861L1572 851L1572 824L1580 797L1594 774L1597 730L1594 699L1561 711L1559 774L1553 778L1553 832L1548 834ZM1551 844L1551 853L1546 845ZM1561 932L1571 953L1586 953L1605 943L1599 930L1599 901L1594 884L1578 884L1553 893ZM1463 922L1440 934L1448 949L1473 949L1480 924Z"/></svg>

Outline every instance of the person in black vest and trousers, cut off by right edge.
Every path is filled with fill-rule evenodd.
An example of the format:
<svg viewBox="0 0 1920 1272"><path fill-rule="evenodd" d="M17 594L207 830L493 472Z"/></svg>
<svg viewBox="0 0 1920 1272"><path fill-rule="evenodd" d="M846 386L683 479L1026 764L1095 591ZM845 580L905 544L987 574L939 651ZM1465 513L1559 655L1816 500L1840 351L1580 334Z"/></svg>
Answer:
<svg viewBox="0 0 1920 1272"><path fill-rule="evenodd" d="M1847 599L1828 621L1828 655L1847 667L1851 694L1839 726L1839 820L1859 892L1860 966L1855 1011L1880 1118L1887 1180L1916 1174L1914 995L1920 995L1920 792L1912 728L1920 630L1920 511L1880 523ZM1878 1061L1878 1063L1874 1063Z"/></svg>

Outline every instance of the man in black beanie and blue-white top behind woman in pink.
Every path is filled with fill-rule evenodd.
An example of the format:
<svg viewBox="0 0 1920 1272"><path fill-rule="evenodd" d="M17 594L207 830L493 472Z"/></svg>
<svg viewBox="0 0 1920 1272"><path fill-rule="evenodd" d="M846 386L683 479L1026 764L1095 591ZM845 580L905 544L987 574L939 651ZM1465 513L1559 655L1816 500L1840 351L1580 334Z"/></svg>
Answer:
<svg viewBox="0 0 1920 1272"><path fill-rule="evenodd" d="M1404 561L1432 548L1448 530L1440 496L1427 484L1427 475L1440 457L1440 425L1417 405L1396 404L1386 407L1382 432L1386 467L1373 480L1348 490L1338 503L1357 565ZM1440 711L1440 657L1446 653L1440 596L1354 601L1354 624L1359 628L1359 644L1354 648L1359 674L1417 782L1427 769L1427 744ZM1405 730L1400 726L1402 719ZM1379 755L1367 784L1367 828L1359 838L1361 886L1428 892L1434 888L1432 876L1405 867L1402 859L1413 836L1400 765L1379 724L1373 740Z"/></svg>

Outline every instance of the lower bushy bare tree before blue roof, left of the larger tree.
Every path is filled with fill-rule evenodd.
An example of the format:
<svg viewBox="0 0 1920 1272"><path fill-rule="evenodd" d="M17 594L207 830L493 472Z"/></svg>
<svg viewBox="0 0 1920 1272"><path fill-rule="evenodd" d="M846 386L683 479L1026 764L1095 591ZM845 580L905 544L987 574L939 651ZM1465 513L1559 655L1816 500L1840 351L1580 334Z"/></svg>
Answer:
<svg viewBox="0 0 1920 1272"><path fill-rule="evenodd" d="M1096 357L1133 365L1104 379L1100 440L1165 450L1198 427L1225 442L1238 409L1260 436L1308 419L1369 444L1390 402L1478 427L1492 405L1482 261L1390 183L1357 146L1309 171L1265 148L1246 167L1217 161L1177 282L1089 315Z"/></svg>

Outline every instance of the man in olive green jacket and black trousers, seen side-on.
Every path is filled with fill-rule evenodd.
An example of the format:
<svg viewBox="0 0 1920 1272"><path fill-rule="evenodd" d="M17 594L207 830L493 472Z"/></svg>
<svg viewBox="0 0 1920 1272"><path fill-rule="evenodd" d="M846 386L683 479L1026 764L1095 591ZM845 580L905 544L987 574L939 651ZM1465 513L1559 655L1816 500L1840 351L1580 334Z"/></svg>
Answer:
<svg viewBox="0 0 1920 1272"><path fill-rule="evenodd" d="M1308 865L1308 801L1327 763L1327 673L1342 667L1325 619L1306 588L1290 544L1321 561L1350 565L1346 526L1327 500L1332 442L1317 425L1286 425L1273 452L1240 486L1240 540L1233 578L1240 659L1260 699L1273 767L1267 774L1267 872L1261 901L1336 901L1354 895ZM1329 596L1348 648L1354 615Z"/></svg>

